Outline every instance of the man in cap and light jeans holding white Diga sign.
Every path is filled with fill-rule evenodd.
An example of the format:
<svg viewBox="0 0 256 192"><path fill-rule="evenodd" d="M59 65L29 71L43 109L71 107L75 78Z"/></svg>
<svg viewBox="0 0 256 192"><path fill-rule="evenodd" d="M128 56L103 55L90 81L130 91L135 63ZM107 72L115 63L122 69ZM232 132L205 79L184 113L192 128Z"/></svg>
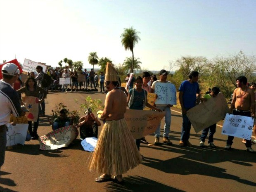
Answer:
<svg viewBox="0 0 256 192"><path fill-rule="evenodd" d="M170 126L171 126L171 109L170 107L173 107L173 104L158 104L157 102L161 102L161 100L170 100L170 96L171 95L166 95L166 97L162 97L160 96L161 93L167 93L167 90L168 88L170 88L170 86L168 86L169 84L170 85L173 85L170 81L167 81L167 71L162 69L160 72L159 72L159 78L160 80L157 80L157 81L154 81L154 83L152 84L152 93L156 93L156 95L158 96L158 98L156 99L156 107L158 109L161 109L161 111L165 111L165 116L164 116L164 138L163 138L163 143L166 143L167 145L172 145L173 143L169 140L169 132L170 132ZM165 86L159 84L159 83L163 83L163 84L166 84ZM168 84L168 85L167 85ZM174 86L174 85L173 85ZM171 87L173 87L171 86ZM175 87L175 86L174 86ZM176 90L174 91L175 92L175 103L176 104ZM160 142L159 142L159 137L160 137L160 126L161 124L159 124L158 128L156 128L156 132L155 132L155 142L154 144L155 145L159 145Z"/></svg>

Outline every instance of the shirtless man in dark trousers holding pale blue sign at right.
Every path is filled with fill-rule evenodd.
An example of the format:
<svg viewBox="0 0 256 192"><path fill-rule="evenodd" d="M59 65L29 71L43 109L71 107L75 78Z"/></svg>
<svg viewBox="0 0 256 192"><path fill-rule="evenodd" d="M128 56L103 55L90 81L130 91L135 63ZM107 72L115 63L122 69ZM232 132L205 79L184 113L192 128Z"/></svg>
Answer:
<svg viewBox="0 0 256 192"><path fill-rule="evenodd" d="M253 90L247 87L247 78L245 76L239 76L237 78L237 88L234 90L230 113L234 115L242 115L253 117L255 116L255 96ZM253 113L251 115L252 109ZM227 145L225 146L226 150L231 149L233 143L233 136L228 136ZM248 152L253 153L254 150L251 148L251 140L246 140L246 149Z"/></svg>

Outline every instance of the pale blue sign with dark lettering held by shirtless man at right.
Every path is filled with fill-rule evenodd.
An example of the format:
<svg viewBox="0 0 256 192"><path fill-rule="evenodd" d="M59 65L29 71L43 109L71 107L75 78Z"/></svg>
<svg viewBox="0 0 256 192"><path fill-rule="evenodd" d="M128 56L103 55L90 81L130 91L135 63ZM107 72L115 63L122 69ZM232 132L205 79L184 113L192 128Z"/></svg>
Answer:
<svg viewBox="0 0 256 192"><path fill-rule="evenodd" d="M226 114L222 134L251 140L254 119L242 115Z"/></svg>

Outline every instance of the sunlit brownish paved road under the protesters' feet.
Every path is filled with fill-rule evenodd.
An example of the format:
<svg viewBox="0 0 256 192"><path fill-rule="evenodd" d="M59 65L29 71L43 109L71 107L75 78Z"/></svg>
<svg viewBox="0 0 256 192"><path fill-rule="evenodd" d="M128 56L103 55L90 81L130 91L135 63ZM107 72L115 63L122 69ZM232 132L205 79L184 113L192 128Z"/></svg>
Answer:
<svg viewBox="0 0 256 192"><path fill-rule="evenodd" d="M102 93L50 92L46 99L47 116L40 118L39 135L50 132L47 118L55 103L64 102L71 110L79 109L74 99L82 103L88 95L103 101L105 97ZM38 141L31 140L6 152L0 192L256 192L256 154L245 151L242 139L235 138L234 149L227 152L223 149L227 137L220 134L218 127L218 148L200 148L200 135L192 129L190 142L194 147L180 147L182 118L179 109L173 110L173 146L142 144L140 150L145 159L124 175L124 185L96 183L98 174L88 171L91 153L83 151L78 139L68 148L51 151L40 151ZM152 135L146 139L154 142ZM256 150L255 145L253 148Z"/></svg>

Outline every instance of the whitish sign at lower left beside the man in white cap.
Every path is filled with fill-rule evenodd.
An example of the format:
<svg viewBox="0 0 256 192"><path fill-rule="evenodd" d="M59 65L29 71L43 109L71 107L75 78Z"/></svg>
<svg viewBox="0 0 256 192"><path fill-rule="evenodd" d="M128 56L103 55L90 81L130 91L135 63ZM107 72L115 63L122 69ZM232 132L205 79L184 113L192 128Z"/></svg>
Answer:
<svg viewBox="0 0 256 192"><path fill-rule="evenodd" d="M8 124L7 128L8 130L6 132L6 147L17 144L25 144L28 132L28 124L16 124L16 126Z"/></svg>

